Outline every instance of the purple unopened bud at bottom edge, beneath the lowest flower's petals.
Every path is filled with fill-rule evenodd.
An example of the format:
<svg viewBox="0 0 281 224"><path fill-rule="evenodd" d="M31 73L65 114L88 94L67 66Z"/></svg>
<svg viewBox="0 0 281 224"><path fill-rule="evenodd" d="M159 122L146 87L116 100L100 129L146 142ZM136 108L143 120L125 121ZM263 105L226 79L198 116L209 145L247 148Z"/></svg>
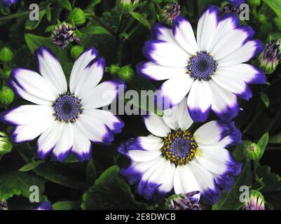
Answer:
<svg viewBox="0 0 281 224"><path fill-rule="evenodd" d="M186 194L172 195L166 203L171 210L202 210L198 202L199 197L194 197L199 193L197 190Z"/></svg>

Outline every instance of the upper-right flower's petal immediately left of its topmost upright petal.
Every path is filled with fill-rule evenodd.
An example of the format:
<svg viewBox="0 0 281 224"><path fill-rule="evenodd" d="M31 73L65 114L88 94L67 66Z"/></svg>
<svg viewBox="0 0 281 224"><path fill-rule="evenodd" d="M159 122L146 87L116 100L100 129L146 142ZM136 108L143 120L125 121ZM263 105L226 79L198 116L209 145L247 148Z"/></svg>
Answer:
<svg viewBox="0 0 281 224"><path fill-rule="evenodd" d="M177 43L184 48L189 55L195 55L199 51L196 38L193 33L191 24L185 18L178 16L173 21L172 31Z"/></svg>

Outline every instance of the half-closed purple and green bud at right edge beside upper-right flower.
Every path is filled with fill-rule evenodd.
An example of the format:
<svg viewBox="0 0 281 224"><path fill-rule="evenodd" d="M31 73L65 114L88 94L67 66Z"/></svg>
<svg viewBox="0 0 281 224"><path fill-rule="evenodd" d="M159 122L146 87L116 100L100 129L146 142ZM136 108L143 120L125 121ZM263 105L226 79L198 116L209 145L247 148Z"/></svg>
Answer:
<svg viewBox="0 0 281 224"><path fill-rule="evenodd" d="M259 62L266 73L273 73L281 59L280 40L273 39L266 43L265 48L259 55Z"/></svg>

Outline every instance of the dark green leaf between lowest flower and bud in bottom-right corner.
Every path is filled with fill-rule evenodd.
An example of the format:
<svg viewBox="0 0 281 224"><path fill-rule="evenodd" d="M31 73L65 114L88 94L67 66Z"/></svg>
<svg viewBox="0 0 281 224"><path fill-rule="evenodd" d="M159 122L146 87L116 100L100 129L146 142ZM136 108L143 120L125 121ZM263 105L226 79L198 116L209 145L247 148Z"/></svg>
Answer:
<svg viewBox="0 0 281 224"><path fill-rule="evenodd" d="M240 202L240 187L250 186L252 183L252 172L249 162L245 162L242 167L241 174L237 176L234 180L231 192L228 193L223 191L220 200L213 205L213 210L237 210L242 207L242 202Z"/></svg>

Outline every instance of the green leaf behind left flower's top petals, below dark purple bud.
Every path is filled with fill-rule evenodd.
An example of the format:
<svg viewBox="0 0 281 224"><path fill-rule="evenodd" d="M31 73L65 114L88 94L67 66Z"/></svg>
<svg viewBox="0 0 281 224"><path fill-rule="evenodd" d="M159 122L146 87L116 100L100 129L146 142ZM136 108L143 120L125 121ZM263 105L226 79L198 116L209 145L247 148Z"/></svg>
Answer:
<svg viewBox="0 0 281 224"><path fill-rule="evenodd" d="M56 45L52 43L51 38L36 36L34 34L25 34L25 41L27 42L27 46L32 54L34 53L34 50L40 48L42 45L50 48L57 59L59 59L60 64L62 65L62 69L64 70L64 74L67 77L67 80L69 80L69 76L73 66L73 62L69 57L71 48L70 44L67 46L67 48L64 48L64 50L60 50Z"/></svg>

